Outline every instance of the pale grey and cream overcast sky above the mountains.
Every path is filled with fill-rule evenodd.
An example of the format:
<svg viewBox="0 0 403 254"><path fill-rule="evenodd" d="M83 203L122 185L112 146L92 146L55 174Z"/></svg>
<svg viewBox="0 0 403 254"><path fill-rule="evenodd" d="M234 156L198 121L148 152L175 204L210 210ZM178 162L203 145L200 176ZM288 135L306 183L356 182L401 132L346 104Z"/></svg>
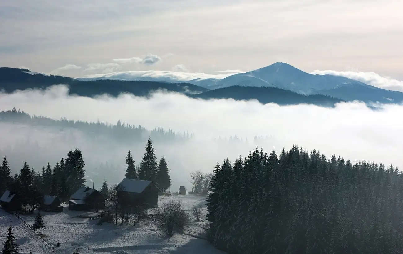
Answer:
<svg viewBox="0 0 403 254"><path fill-rule="evenodd" d="M0 1L0 66L214 76L286 62L400 86L402 8L396 0Z"/></svg>

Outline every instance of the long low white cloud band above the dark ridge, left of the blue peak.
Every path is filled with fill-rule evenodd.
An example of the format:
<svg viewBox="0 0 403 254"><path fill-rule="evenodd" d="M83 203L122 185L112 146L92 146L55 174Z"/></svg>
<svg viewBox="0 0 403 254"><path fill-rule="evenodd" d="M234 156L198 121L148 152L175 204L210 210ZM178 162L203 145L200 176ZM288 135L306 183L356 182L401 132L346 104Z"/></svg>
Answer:
<svg viewBox="0 0 403 254"><path fill-rule="evenodd" d="M169 70L143 70L143 71L120 71L112 72L108 74L91 74L84 76L85 78L116 78L123 80L147 80L147 78L152 78L154 80L176 82L176 81L190 81L193 79L207 79L207 78L217 78L222 79L230 74L207 74L207 73L191 73L191 72L175 72Z"/></svg>

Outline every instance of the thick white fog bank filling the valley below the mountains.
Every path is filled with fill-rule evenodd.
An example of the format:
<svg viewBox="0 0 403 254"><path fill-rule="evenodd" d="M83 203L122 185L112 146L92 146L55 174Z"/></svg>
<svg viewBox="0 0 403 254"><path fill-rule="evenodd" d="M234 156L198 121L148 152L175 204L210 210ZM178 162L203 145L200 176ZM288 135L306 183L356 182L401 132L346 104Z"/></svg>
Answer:
<svg viewBox="0 0 403 254"><path fill-rule="evenodd" d="M46 91L1 94L0 110L15 106L29 114L54 119L66 117L113 124L120 120L135 126L141 124L147 129L160 126L194 133L195 138L188 141L167 140L154 145L156 156L165 155L170 166L171 190L178 189L179 185L189 186L190 171L211 172L217 161L227 157L234 161L256 146L268 152L275 148L279 154L283 147L289 149L299 145L307 150L316 149L328 157L335 154L352 161L393 163L403 168L403 158L396 152L403 143L400 127L403 120L397 117L403 115L402 105L383 105L382 110L373 111L362 103L339 103L329 109L313 105L262 105L257 101L232 99L204 101L175 93L155 93L147 99L131 95L77 97L69 96L67 92L64 86L54 86ZM343 121L334 122L334 119ZM333 124L329 125L329 122ZM38 161L40 168L48 161L54 164L75 147L83 151L87 172L96 171L96 163L105 161L120 166L116 172L100 173L98 179L91 175L96 183L102 182L104 177L114 181L123 178L127 151L131 149L139 163L146 143L123 144L102 135L88 137L75 129L45 129L4 122L0 122L0 132L3 134L0 149L18 147L10 152L12 154L0 151L0 157L14 156L10 163L14 171L21 168L25 159L31 164ZM247 138L248 142L224 140L235 135L243 140ZM267 138L253 141L254 136ZM219 137L222 140L214 140ZM35 148L26 149L24 140L29 140Z"/></svg>

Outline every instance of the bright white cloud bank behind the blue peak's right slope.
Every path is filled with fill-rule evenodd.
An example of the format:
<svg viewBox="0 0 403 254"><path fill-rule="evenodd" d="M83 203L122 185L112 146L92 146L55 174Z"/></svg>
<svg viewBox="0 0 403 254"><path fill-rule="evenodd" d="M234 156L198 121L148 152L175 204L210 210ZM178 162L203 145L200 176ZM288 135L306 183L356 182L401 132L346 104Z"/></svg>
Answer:
<svg viewBox="0 0 403 254"><path fill-rule="evenodd" d="M362 83L379 87L382 89L403 92L403 81L398 81L391 77L381 76L375 72L354 72L354 71L336 71L336 70L315 70L312 74L331 74L352 78Z"/></svg>

